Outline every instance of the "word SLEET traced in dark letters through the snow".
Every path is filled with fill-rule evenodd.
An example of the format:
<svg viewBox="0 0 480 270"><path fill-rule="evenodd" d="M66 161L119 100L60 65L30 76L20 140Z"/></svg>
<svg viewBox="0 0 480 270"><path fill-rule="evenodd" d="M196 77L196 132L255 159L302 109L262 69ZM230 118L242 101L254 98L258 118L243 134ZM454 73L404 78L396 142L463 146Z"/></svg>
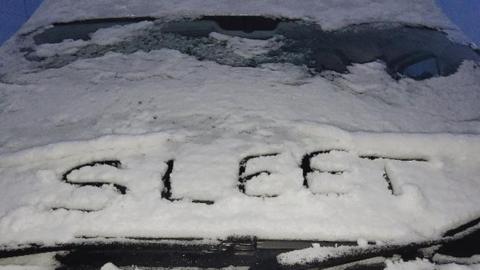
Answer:
<svg viewBox="0 0 480 270"><path fill-rule="evenodd" d="M205 157L202 157L204 159ZM352 172L349 164L361 165L360 171L364 173L381 175L385 188L392 195L397 195L392 179L388 173L386 161L408 162L414 166L417 162L428 162L425 158L399 158L380 155L354 155L344 149L328 149L309 152L303 155L299 163L299 169L303 178L293 179L288 177L288 170L295 160L288 159L282 153L264 153L257 155L249 155L241 159L238 170L238 191L248 196L256 197L276 197L280 195L284 189L291 186L298 189L300 186L310 189L314 194L344 194L348 193L345 188L345 182L355 184L358 173ZM349 163L349 164L342 164ZM369 164L371 163L371 164ZM174 170L175 159L165 161L166 169L161 177L163 182L162 198L167 200L180 200L182 198L175 197L172 194L172 183L175 179L171 177ZM372 166L373 165L373 166ZM95 172L109 171L112 168L122 170L120 160L97 160L82 165L75 166L62 175L62 180L66 183L79 186L96 186L101 187L111 184L107 181L86 181L82 179L92 179ZM358 168L356 168L358 170ZM98 175L98 173L96 174ZM291 175L291 174L290 174ZM287 178L285 178L287 176ZM342 181L342 185L321 186L319 182L325 181ZM284 183L282 183L284 182ZM291 183L288 183L291 182ZM328 184L327 184L328 185ZM128 190L126 186L113 184L118 193L125 194ZM213 200L193 200L194 203L212 204Z"/></svg>

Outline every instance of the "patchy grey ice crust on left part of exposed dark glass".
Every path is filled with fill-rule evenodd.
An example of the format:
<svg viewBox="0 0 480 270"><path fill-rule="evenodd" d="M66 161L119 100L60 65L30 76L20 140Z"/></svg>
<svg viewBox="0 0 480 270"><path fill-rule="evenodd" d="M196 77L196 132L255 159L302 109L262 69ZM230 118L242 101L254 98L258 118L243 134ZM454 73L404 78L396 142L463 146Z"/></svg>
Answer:
<svg viewBox="0 0 480 270"><path fill-rule="evenodd" d="M256 66L272 62L267 54L282 45L281 36L254 40L211 32L192 37L165 32L163 27L162 24L139 22L99 29L90 35L88 41L77 37L60 43L40 44L27 58L39 61L43 68L58 68L77 59L99 57L109 52L129 54L168 48L220 64Z"/></svg>

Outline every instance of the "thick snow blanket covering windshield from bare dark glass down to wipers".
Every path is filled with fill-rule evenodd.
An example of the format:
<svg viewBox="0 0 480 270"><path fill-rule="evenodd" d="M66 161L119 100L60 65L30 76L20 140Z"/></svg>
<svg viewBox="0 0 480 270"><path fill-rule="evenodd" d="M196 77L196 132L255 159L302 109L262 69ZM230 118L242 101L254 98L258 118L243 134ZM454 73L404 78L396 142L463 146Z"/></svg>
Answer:
<svg viewBox="0 0 480 270"><path fill-rule="evenodd" d="M0 67L0 244L231 235L403 243L480 215L476 63L395 81L380 62L312 75L161 49L16 69L26 60L12 44L0 53L13 65ZM241 160L272 153L246 163L245 174L260 174L242 193ZM111 185L61 181L102 160L121 166L84 167L68 180ZM162 198L169 160L173 201Z"/></svg>

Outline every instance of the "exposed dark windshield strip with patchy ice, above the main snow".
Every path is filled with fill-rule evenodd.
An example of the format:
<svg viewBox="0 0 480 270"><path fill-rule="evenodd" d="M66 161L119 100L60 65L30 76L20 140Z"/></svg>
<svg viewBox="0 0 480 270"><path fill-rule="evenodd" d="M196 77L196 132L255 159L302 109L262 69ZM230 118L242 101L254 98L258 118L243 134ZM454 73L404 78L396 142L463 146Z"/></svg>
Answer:
<svg viewBox="0 0 480 270"><path fill-rule="evenodd" d="M37 46L26 57L44 68L108 52L167 48L236 67L291 63L314 74L346 73L354 63L382 61L395 79L422 80L450 75L462 61L480 59L470 47L425 27L361 24L324 31L303 21L251 16L167 22L145 17L77 21L37 32L34 41Z"/></svg>

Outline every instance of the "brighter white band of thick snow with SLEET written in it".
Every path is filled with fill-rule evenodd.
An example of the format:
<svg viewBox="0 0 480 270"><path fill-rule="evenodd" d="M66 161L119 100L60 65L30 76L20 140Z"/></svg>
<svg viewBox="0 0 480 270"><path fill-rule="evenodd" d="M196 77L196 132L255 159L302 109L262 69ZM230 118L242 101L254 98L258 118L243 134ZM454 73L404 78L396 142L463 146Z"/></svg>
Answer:
<svg viewBox="0 0 480 270"><path fill-rule="evenodd" d="M476 137L287 126L268 145L229 131L208 142L161 132L0 156L2 242L235 234L403 243L477 216Z"/></svg>

